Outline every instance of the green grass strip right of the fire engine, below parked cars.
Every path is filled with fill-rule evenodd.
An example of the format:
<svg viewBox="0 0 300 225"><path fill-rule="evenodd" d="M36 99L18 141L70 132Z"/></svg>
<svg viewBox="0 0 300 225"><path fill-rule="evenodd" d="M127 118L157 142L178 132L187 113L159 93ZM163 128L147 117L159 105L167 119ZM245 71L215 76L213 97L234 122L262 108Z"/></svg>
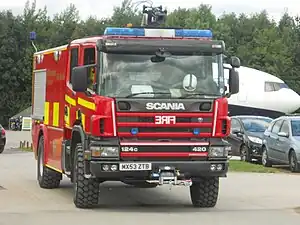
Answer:
<svg viewBox="0 0 300 225"><path fill-rule="evenodd" d="M274 167L264 167L255 163L247 163L239 160L229 161L230 172L250 172L250 173L283 173L284 171Z"/></svg>

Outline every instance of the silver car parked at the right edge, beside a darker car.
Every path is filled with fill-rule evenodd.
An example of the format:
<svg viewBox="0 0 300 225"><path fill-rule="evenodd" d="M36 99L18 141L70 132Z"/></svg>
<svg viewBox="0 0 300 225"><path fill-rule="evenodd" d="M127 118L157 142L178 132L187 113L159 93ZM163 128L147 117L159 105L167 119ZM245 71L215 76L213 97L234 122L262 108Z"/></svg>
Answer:
<svg viewBox="0 0 300 225"><path fill-rule="evenodd" d="M300 172L300 116L281 116L272 121L263 135L262 164L289 165Z"/></svg>

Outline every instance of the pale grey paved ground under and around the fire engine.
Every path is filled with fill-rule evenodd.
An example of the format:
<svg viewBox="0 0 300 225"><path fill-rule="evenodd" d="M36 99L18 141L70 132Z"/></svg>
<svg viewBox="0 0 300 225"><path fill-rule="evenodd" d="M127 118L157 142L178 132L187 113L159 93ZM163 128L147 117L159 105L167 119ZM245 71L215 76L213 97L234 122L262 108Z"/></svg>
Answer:
<svg viewBox="0 0 300 225"><path fill-rule="evenodd" d="M98 209L80 210L72 203L68 180L43 190L36 183L32 153L0 155L0 224L145 224L145 225L296 225L300 214L300 177L287 174L230 173L221 180L214 209L191 207L188 189L136 189L122 183L101 185Z"/></svg>

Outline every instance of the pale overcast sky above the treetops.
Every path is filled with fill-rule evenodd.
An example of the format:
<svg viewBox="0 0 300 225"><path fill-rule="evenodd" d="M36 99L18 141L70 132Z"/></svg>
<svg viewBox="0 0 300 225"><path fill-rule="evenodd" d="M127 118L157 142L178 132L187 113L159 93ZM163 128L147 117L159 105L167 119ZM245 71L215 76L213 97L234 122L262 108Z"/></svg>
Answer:
<svg viewBox="0 0 300 225"><path fill-rule="evenodd" d="M136 2L137 0L133 0ZM0 9L11 9L14 13L23 10L26 0L0 0ZM70 3L76 5L83 19L89 15L107 17L112 14L114 6L120 5L122 0L37 0L37 7L47 6L49 14L62 11ZM300 14L300 1L297 0L153 0L154 5L163 5L168 9L180 7L195 7L201 3L210 4L217 16L223 12L253 13L266 9L271 17L278 20L284 10L291 15ZM141 6L142 7L142 6Z"/></svg>

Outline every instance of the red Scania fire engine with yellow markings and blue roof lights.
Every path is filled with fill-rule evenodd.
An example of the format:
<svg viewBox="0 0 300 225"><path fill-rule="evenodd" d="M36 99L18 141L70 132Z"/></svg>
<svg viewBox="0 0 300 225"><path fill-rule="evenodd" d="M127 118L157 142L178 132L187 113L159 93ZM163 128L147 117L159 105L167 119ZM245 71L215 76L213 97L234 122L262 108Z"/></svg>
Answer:
<svg viewBox="0 0 300 225"><path fill-rule="evenodd" d="M214 207L230 150L224 51L210 30L144 26L108 27L36 52L32 140L40 187L58 188L64 174L76 207L90 208L105 181L185 185L195 207ZM231 66L234 94L239 59Z"/></svg>

